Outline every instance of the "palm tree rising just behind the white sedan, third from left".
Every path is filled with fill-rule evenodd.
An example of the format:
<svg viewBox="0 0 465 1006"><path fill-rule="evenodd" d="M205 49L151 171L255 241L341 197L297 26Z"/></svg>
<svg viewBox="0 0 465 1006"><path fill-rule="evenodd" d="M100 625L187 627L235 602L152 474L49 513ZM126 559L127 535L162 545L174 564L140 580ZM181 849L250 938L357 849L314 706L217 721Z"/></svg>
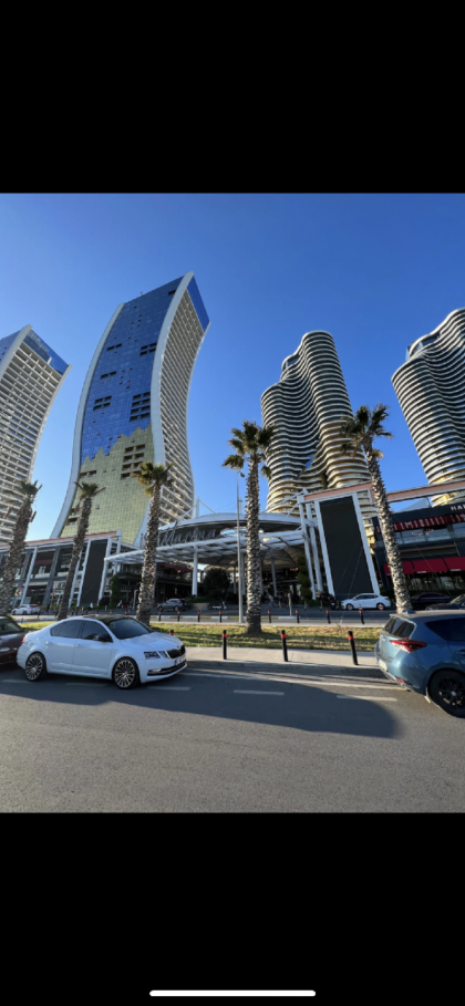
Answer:
<svg viewBox="0 0 465 1006"><path fill-rule="evenodd" d="M173 485L169 465L153 465L152 461L142 461L138 471L133 471L133 477L138 478L141 486L151 497L148 507L147 533L144 546L144 563L142 567L141 591L138 595L137 618L141 622L151 624L153 592L156 574L156 547L158 543L159 510L162 489L169 489Z"/></svg>

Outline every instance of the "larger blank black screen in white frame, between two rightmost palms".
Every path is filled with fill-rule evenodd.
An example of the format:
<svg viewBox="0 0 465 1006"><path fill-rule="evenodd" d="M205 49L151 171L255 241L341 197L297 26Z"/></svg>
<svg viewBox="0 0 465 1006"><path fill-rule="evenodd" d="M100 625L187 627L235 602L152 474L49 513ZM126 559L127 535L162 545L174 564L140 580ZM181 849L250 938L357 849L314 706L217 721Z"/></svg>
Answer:
<svg viewBox="0 0 465 1006"><path fill-rule="evenodd" d="M320 508L334 594L343 600L362 592L372 593L352 497L322 500Z"/></svg>

